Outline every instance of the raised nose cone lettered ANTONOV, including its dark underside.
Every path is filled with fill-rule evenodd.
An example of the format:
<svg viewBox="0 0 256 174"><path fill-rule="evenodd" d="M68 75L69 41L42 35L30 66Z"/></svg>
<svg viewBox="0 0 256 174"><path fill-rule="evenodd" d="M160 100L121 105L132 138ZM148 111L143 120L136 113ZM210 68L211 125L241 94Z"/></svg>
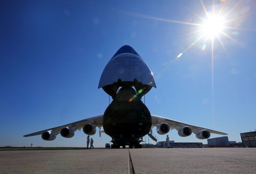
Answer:
<svg viewBox="0 0 256 174"><path fill-rule="evenodd" d="M102 87L113 97L119 87L132 86L144 95L152 87L156 88L156 83L147 63L132 47L124 45L118 49L104 68L98 88Z"/></svg>

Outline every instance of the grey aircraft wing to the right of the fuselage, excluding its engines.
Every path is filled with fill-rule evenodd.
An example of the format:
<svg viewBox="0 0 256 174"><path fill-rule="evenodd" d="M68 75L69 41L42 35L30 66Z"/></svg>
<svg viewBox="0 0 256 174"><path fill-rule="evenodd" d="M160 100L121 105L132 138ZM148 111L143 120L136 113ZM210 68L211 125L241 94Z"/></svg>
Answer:
<svg viewBox="0 0 256 174"><path fill-rule="evenodd" d="M193 125L189 125L187 123L182 123L176 120L171 120L171 119L167 119L164 117L160 117L160 116L156 116L156 115L151 115L152 117L152 126L158 126L161 123L167 123L169 125L169 127L172 129L176 129L177 131L182 128L182 127L190 127L193 133L197 133L201 130L207 130L212 134L220 134L220 135L227 135L226 133L223 132L219 132L219 131L215 131L215 130L211 130L211 129L206 129L203 127L198 127L198 126L193 126Z"/></svg>

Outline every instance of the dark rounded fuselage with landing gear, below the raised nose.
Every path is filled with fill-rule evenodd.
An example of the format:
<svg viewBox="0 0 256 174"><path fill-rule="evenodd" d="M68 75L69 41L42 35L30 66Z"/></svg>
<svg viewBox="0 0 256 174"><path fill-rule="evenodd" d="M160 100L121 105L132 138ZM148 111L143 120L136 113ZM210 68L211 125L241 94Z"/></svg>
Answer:
<svg viewBox="0 0 256 174"><path fill-rule="evenodd" d="M104 131L117 146L136 146L151 126L151 114L132 87L121 88L103 115Z"/></svg>

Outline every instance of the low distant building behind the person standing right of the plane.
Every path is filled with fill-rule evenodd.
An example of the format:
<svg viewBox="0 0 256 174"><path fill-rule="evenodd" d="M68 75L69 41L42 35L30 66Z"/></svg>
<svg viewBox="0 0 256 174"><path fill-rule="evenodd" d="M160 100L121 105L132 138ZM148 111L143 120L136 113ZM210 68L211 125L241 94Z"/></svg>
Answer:
<svg viewBox="0 0 256 174"><path fill-rule="evenodd" d="M201 148L203 147L202 142L169 142L171 148ZM157 147L167 148L166 141L159 141L156 143Z"/></svg>

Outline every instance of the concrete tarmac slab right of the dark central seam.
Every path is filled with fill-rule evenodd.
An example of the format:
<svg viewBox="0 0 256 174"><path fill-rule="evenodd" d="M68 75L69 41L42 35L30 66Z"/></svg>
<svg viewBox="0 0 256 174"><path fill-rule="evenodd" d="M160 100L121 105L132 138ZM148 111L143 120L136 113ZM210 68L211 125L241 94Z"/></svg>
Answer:
<svg viewBox="0 0 256 174"><path fill-rule="evenodd" d="M256 148L131 149L136 173L256 173Z"/></svg>

